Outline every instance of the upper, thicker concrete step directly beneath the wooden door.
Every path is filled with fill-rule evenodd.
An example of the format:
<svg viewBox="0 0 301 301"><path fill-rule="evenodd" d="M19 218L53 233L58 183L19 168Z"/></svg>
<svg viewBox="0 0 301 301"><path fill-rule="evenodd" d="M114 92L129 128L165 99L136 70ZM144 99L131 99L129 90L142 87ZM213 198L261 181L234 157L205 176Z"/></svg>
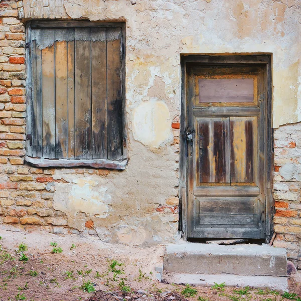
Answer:
<svg viewBox="0 0 301 301"><path fill-rule="evenodd" d="M171 244L164 270L182 274L286 276L286 250L268 245Z"/></svg>

